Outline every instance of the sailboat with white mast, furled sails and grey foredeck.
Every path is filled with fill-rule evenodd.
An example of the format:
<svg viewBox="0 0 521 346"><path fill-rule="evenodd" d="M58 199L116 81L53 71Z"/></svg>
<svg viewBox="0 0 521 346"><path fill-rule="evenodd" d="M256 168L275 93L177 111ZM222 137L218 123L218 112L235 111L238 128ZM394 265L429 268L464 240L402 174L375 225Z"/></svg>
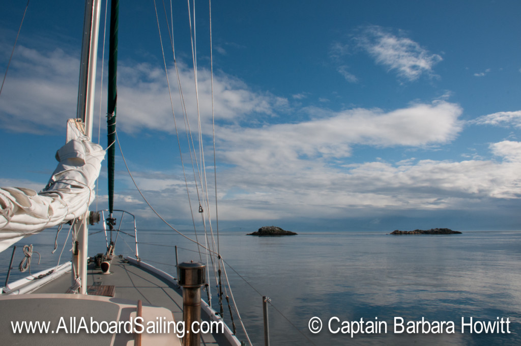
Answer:
<svg viewBox="0 0 521 346"><path fill-rule="evenodd" d="M78 117L67 122L67 140L56 153L59 163L55 172L40 193L24 188L0 189L0 251L49 227L61 229L68 224L73 234L70 262L2 288L2 343L199 345L202 341L239 346L243 342L235 326L230 328L224 323L222 305L217 312L210 306L209 293L207 301L201 299L202 288L208 289L206 264L177 263L174 277L145 263L138 254L135 218L134 257L117 256L114 241L108 242L108 238L106 249L95 250L101 251L95 256L89 253L89 225L102 219L105 234L107 227L109 232L119 230L113 197L109 197L106 218L105 211L89 211L105 156L105 150L91 142L100 4L101 0L86 0ZM117 12L118 1L113 0L109 58L112 81L107 112L109 180L113 180L116 146ZM133 218L128 212L119 212ZM224 265L220 255L206 250L215 258L217 264L213 264L219 267L220 276L220 265ZM28 258L31 251L24 246ZM224 283L219 277L221 285ZM224 298L222 287L219 289L220 298Z"/></svg>

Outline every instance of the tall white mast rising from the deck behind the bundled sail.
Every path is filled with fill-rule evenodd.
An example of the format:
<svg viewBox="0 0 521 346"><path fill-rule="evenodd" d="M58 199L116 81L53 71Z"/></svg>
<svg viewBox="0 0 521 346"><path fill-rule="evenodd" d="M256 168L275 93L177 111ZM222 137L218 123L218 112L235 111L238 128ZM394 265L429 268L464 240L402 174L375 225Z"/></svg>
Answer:
<svg viewBox="0 0 521 346"><path fill-rule="evenodd" d="M80 84L78 88L78 118L82 119L85 123L85 135L89 137L89 139L92 139L100 9L101 0L85 1ZM75 270L73 270L72 280L73 285L77 282L77 278L81 280L81 286L79 287L80 294L87 294L88 221L89 211L81 217L79 223L75 224L75 231L78 233L78 242L72 254L72 263L77 268L77 276L75 275Z"/></svg>

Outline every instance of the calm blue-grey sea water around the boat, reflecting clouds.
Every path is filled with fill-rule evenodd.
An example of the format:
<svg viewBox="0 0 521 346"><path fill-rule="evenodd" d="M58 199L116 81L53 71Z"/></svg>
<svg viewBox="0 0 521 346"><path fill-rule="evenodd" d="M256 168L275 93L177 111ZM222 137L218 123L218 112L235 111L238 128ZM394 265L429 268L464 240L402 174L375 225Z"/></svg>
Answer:
<svg viewBox="0 0 521 346"><path fill-rule="evenodd" d="M262 295L271 299L268 310L272 345L521 344L521 232L467 231L451 236L316 232L270 238L244 233L221 232L219 245L222 257L242 276L227 268L253 344L264 344ZM43 257L38 266L35 255L33 272L57 261L57 254L49 254L54 235L49 231L30 239L34 250ZM65 236L60 235L60 244ZM155 261L153 264L170 273L175 272L175 251L171 246L193 249L188 241L167 231L143 231L138 237L143 242L139 248L142 258ZM132 241L120 238L117 252L131 254ZM90 251L94 254L96 246L102 248L103 242L101 234L92 236ZM180 262L200 260L199 254L183 249L179 250ZM23 256L21 246L17 251L16 266ZM69 257L66 250L62 262ZM9 250L0 254L2 285L9 258ZM11 281L17 277L19 273L11 274ZM322 321L322 329L316 334L308 329L312 317ZM332 317L337 319L333 319L331 328L338 333L329 330ZM410 333L395 332L395 317L403 318L405 328L409 321L420 323L419 328ZM510 333L506 333L506 324L504 333L501 327L499 332L478 333L480 324L472 333L469 327L462 333L462 318L469 323L470 317L473 324L508 318ZM422 318L431 327L435 321L453 322L454 330L423 333L422 326L426 330L427 324L421 324ZM351 337L350 331L339 330L342 322L361 319L365 322L363 330L368 332ZM367 322L376 320L387 324L387 332L382 324L379 330L367 329ZM239 328L237 317L235 324Z"/></svg>

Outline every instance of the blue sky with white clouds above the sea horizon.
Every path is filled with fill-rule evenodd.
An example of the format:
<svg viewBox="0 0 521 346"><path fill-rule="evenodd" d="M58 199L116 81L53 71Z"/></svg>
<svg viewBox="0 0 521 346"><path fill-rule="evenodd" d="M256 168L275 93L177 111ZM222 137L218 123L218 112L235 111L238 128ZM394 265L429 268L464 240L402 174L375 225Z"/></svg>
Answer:
<svg viewBox="0 0 521 346"><path fill-rule="evenodd" d="M119 21L119 139L151 204L173 225L190 228L154 5L126 3ZM0 14L2 73L24 5L4 4ZM184 131L179 79L197 141L187 4L175 5L179 77L158 5L176 121ZM220 227L521 228L520 10L517 1L214 1ZM76 114L82 16L83 5L72 2L30 4L0 95L1 186L40 190L54 170L66 119ZM208 3L196 4L196 17L213 201ZM100 42L102 35L103 27ZM103 64L100 58L98 69ZM105 136L102 129L104 146ZM196 209L185 134L181 141ZM116 170L116 207L138 215L142 228L158 227L120 158ZM100 209L105 185L99 184Z"/></svg>

